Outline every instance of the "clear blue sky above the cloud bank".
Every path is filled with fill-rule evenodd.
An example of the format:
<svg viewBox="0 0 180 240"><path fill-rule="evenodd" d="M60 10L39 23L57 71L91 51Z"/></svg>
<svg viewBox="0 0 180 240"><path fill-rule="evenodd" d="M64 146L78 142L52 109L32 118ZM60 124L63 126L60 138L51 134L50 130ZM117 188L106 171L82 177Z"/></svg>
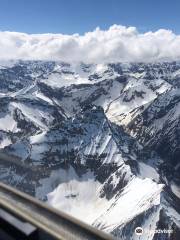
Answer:
<svg viewBox="0 0 180 240"><path fill-rule="evenodd" d="M160 28L180 33L180 1L174 0L0 0L0 30L80 33L112 24L140 32Z"/></svg>

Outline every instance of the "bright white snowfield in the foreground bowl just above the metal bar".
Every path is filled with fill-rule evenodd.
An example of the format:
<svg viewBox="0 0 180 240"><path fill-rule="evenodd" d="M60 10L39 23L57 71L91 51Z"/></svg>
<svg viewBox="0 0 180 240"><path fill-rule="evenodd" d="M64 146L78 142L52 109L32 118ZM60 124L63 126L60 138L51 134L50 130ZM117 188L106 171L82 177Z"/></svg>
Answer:
<svg viewBox="0 0 180 240"><path fill-rule="evenodd" d="M94 179L73 179L48 194L48 203L68 214L112 232L139 214L160 204L163 185L150 179L133 179L111 201L100 197L102 185Z"/></svg>

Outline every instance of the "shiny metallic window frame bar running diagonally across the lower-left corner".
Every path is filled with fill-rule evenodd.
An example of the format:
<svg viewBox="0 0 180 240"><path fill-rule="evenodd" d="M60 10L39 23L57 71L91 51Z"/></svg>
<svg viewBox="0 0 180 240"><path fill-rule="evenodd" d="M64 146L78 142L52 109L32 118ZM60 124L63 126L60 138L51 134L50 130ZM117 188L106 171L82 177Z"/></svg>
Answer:
<svg viewBox="0 0 180 240"><path fill-rule="evenodd" d="M59 240L114 239L111 235L3 183L0 183L0 207Z"/></svg>

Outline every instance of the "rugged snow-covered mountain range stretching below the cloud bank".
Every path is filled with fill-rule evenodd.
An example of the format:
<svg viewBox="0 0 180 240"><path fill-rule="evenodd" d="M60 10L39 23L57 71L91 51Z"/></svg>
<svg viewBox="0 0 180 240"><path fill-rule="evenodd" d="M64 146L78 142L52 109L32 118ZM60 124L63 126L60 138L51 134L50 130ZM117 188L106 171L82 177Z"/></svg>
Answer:
<svg viewBox="0 0 180 240"><path fill-rule="evenodd" d="M179 62L1 62L0 106L1 181L120 239L180 238Z"/></svg>

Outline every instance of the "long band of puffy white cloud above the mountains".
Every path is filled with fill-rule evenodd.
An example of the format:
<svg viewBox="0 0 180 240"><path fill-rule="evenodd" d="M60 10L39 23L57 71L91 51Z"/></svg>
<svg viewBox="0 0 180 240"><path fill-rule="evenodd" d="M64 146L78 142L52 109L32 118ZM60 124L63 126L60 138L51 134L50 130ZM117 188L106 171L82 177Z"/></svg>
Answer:
<svg viewBox="0 0 180 240"><path fill-rule="evenodd" d="M180 35L170 30L139 33L113 25L84 35L0 32L0 59L84 62L171 61L180 59Z"/></svg>

